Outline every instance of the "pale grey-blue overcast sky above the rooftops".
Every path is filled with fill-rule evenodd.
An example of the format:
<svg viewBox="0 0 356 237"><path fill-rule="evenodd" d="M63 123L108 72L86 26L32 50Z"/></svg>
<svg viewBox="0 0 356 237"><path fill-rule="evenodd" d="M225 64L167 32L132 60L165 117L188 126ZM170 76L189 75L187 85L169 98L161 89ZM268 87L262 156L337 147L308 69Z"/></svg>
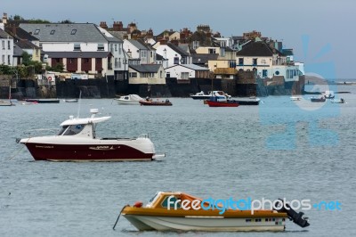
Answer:
<svg viewBox="0 0 356 237"><path fill-rule="evenodd" d="M53 22L100 24L135 22L138 29L195 31L209 25L223 37L260 31L293 48L295 61L322 78L356 78L356 1L354 0L1 0L0 14Z"/></svg>

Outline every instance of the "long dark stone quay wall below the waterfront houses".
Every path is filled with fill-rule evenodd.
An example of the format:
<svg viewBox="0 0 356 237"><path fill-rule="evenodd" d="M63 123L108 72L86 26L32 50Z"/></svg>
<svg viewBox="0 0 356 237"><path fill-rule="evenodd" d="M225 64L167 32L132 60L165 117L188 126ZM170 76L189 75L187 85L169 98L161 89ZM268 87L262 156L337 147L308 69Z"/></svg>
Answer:
<svg viewBox="0 0 356 237"><path fill-rule="evenodd" d="M9 97L9 81L0 79L0 98ZM166 85L129 85L128 80L114 78L59 79L54 83L38 83L33 79L12 80L12 98L114 98L122 94L142 97L189 97L200 91L223 90L232 96L268 96L301 94L304 80L267 85L265 79L241 75L237 79L191 78L187 81L166 78Z"/></svg>

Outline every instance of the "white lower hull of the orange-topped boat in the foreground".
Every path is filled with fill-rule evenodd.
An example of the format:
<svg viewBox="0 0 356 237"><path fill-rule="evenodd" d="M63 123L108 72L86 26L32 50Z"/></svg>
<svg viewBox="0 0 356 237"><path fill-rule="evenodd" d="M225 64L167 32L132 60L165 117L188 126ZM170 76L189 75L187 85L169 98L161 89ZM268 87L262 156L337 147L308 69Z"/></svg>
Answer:
<svg viewBox="0 0 356 237"><path fill-rule="evenodd" d="M140 231L284 231L285 218L151 217L124 215ZM271 220L271 221L267 221ZM274 221L272 221L272 219ZM248 221L250 220L250 221ZM261 221L256 221L261 220Z"/></svg>

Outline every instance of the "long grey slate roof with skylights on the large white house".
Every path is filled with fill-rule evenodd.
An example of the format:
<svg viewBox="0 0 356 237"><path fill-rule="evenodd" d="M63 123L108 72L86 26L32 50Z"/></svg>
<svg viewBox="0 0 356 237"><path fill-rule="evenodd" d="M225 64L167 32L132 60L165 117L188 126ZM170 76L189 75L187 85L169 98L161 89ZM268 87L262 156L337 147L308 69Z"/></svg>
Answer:
<svg viewBox="0 0 356 237"><path fill-rule="evenodd" d="M92 23L86 24L28 24L20 28L42 42L95 42L107 43L107 38Z"/></svg>

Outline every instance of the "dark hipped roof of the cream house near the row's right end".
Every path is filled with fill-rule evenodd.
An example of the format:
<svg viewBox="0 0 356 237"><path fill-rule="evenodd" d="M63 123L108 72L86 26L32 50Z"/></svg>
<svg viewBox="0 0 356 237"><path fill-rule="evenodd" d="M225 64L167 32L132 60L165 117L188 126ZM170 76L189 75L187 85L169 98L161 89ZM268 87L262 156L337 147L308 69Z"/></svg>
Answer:
<svg viewBox="0 0 356 237"><path fill-rule="evenodd" d="M250 42L245 47L243 47L236 55L238 56L253 56L253 57L271 57L273 54L280 53L277 49L272 49L269 45L263 41Z"/></svg>

